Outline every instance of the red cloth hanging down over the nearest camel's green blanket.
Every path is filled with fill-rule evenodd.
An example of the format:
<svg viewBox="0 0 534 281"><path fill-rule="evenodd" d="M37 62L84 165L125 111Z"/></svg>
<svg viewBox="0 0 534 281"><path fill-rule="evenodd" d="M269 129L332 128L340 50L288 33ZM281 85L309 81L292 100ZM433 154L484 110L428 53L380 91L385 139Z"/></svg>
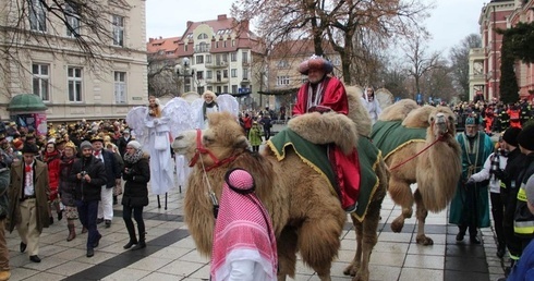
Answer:
<svg viewBox="0 0 534 281"><path fill-rule="evenodd" d="M357 150L344 155L339 146L329 147L329 159L336 174L338 196L343 209L353 209L360 195L360 160Z"/></svg>

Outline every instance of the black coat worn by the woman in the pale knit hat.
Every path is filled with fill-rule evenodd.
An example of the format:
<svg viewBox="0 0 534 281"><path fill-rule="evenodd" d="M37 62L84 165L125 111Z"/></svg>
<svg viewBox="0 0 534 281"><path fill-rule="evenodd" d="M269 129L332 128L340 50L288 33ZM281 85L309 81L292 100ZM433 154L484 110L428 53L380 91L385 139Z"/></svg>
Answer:
<svg viewBox="0 0 534 281"><path fill-rule="evenodd" d="M150 181L148 157L144 156L135 163L124 161L122 179L126 181L122 194L122 205L130 207L147 206L148 182Z"/></svg>

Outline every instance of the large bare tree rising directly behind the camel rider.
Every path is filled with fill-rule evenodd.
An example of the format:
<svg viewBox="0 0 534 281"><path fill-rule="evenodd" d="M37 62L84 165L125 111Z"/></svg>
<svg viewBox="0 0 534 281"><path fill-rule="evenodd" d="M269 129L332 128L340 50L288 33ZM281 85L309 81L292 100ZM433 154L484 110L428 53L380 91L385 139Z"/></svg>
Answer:
<svg viewBox="0 0 534 281"><path fill-rule="evenodd" d="M311 37L315 53L323 54L323 41L328 40L341 56L344 82L351 84L357 33L368 32L384 39L410 34L413 28L418 29L428 8L418 0L238 0L232 13L257 19L259 34L268 42Z"/></svg>

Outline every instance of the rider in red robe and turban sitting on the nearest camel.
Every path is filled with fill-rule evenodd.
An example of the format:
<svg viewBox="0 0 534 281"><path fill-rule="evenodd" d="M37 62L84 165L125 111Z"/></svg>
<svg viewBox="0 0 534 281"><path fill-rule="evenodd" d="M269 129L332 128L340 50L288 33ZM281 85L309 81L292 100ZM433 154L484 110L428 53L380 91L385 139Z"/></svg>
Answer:
<svg viewBox="0 0 534 281"><path fill-rule="evenodd" d="M336 111L349 113L349 100L343 84L336 77L327 75L332 64L321 57L312 56L299 65L299 72L307 75L308 82L301 86L296 94L293 115L306 112ZM355 144L354 144L355 145ZM329 157L336 173L341 206L348 212L356 209L360 193L360 162L354 147L351 154L344 155L341 149L331 145Z"/></svg>

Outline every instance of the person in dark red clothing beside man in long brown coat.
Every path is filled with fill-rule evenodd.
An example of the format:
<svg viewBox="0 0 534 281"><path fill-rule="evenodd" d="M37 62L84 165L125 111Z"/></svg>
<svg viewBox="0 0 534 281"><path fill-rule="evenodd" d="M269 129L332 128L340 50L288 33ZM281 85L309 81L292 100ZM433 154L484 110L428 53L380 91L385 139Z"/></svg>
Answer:
<svg viewBox="0 0 534 281"><path fill-rule="evenodd" d="M53 142L48 142L46 150L43 152L43 161L48 166L48 181L50 182L50 196L48 198L50 210L56 210L58 213L58 220L63 218L63 211L60 208L59 198L59 173L60 173L60 158L61 155L56 149L56 144ZM50 211L50 224L53 223L53 217Z"/></svg>

